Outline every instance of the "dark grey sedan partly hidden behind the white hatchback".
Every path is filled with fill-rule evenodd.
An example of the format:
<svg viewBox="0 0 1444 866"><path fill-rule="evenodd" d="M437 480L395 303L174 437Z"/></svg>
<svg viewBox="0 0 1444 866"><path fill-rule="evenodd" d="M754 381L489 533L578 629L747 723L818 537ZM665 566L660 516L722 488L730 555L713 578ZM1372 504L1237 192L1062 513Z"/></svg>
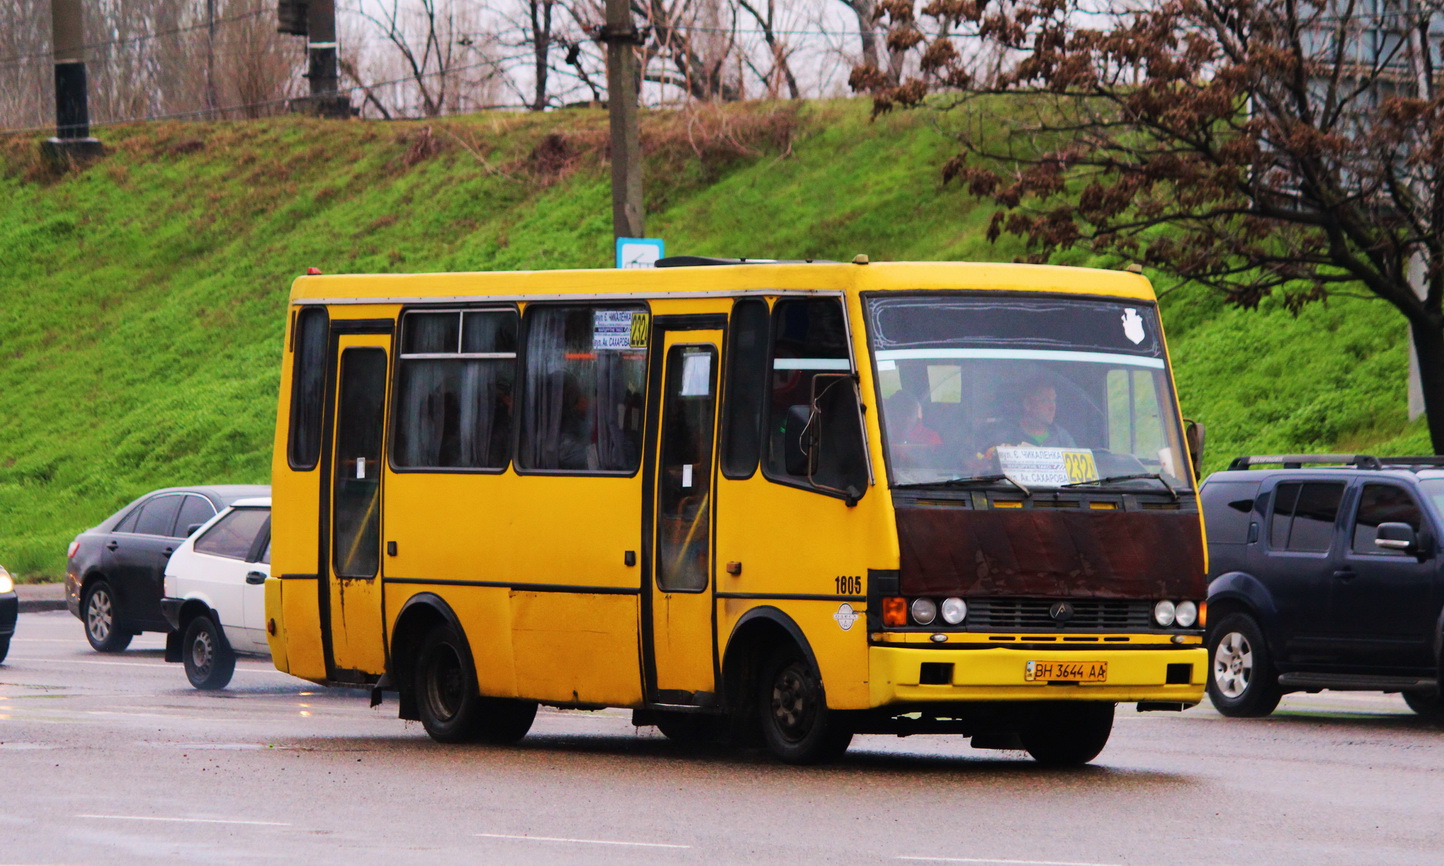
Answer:
<svg viewBox="0 0 1444 866"><path fill-rule="evenodd" d="M160 613L166 560L180 541L237 499L269 497L264 485L152 491L71 541L65 600L85 639L118 652L146 631L169 631Z"/></svg>

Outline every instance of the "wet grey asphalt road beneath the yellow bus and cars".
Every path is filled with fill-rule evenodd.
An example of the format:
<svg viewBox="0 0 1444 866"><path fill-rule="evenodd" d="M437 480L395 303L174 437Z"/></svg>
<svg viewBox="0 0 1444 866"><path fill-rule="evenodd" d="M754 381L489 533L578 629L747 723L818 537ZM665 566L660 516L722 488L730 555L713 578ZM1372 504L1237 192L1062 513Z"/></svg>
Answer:
<svg viewBox="0 0 1444 866"><path fill-rule="evenodd" d="M394 700L267 660L196 691L162 645L100 655L69 613L20 615L0 865L1444 862L1444 732L1396 696L1289 696L1262 720L1123 707L1076 771L879 736L804 769L686 752L624 710L442 746Z"/></svg>

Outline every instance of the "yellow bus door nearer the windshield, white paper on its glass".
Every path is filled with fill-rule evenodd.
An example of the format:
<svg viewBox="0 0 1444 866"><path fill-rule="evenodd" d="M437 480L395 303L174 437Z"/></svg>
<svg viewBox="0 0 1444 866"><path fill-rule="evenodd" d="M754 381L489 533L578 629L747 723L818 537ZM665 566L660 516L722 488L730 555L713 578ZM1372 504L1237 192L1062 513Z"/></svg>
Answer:
<svg viewBox="0 0 1444 866"><path fill-rule="evenodd" d="M653 489L648 699L710 706L716 696L712 580L713 439L721 331L663 331Z"/></svg>

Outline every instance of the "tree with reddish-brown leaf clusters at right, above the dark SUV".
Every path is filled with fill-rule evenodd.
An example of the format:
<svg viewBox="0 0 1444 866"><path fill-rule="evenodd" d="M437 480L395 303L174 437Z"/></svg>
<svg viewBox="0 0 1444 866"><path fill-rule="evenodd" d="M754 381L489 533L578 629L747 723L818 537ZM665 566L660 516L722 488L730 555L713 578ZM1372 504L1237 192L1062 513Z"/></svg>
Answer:
<svg viewBox="0 0 1444 866"><path fill-rule="evenodd" d="M934 0L986 39L915 45L926 75L856 75L875 110L927 92L979 117L943 176L1001 205L1034 258L1086 247L1214 287L1383 299L1409 322L1444 453L1444 42L1440 0ZM998 117L998 113L992 113Z"/></svg>

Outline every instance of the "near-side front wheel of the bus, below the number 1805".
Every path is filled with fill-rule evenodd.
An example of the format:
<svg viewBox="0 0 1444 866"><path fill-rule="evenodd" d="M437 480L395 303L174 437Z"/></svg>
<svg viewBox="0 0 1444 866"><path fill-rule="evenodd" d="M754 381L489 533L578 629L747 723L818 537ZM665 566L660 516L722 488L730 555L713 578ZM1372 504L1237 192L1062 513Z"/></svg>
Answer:
<svg viewBox="0 0 1444 866"><path fill-rule="evenodd" d="M830 761L852 742L852 729L827 709L822 675L797 647L777 650L762 665L757 704L762 740L787 764Z"/></svg>

